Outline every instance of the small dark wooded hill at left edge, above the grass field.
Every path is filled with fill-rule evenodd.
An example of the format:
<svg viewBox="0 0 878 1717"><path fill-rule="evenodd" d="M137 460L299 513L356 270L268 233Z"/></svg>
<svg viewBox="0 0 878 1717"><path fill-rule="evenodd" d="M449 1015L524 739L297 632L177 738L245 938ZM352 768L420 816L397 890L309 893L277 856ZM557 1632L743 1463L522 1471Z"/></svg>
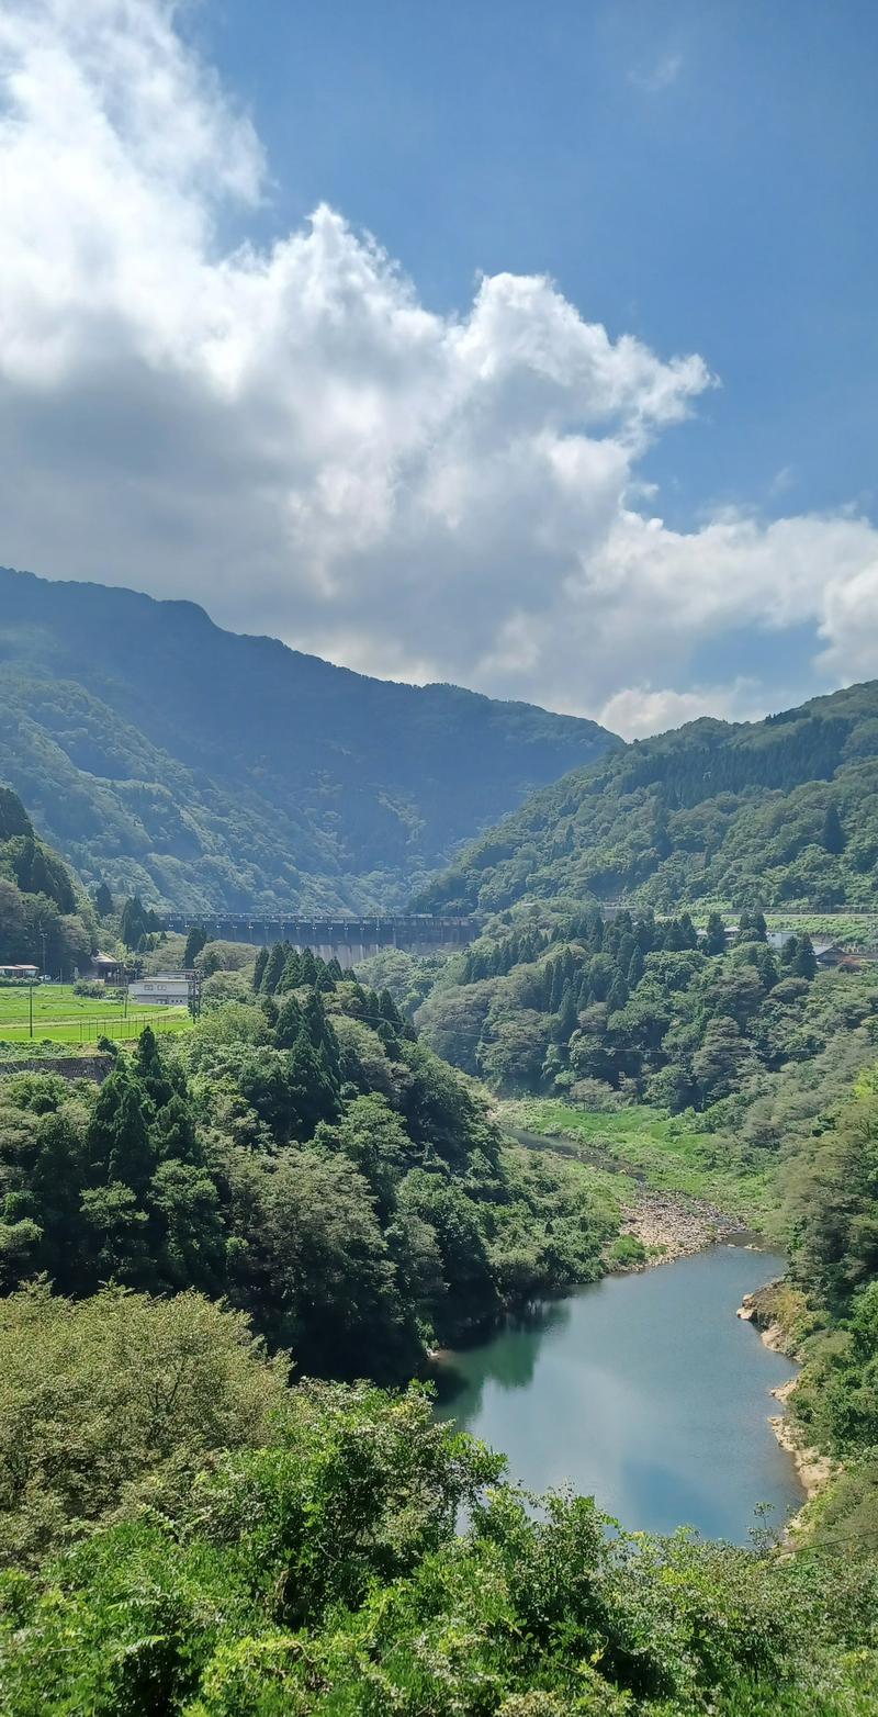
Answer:
<svg viewBox="0 0 878 1717"><path fill-rule="evenodd" d="M93 951L94 913L9 786L0 785L0 963L70 972Z"/></svg>

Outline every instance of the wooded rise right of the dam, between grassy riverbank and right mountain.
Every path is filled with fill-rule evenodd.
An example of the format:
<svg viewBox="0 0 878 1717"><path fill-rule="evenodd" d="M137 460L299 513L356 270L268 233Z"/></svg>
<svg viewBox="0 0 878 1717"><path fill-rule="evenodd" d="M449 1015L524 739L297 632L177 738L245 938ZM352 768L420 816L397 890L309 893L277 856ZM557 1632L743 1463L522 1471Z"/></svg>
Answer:
<svg viewBox="0 0 878 1717"><path fill-rule="evenodd" d="M741 1092L755 1101L827 1051L840 1078L857 1071L876 1010L878 967L820 972L808 931L773 948L760 912L743 912L732 939L719 913L698 931L688 913L593 908L544 927L494 920L448 962L418 1022L501 1094L646 1101L717 1125Z"/></svg>

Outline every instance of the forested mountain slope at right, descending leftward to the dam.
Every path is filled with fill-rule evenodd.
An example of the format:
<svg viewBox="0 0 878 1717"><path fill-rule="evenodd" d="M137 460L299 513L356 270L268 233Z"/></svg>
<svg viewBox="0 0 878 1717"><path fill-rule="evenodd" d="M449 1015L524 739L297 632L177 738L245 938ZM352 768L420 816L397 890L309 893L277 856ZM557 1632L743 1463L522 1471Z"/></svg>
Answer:
<svg viewBox="0 0 878 1717"><path fill-rule="evenodd" d="M417 900L875 908L878 682L767 721L701 719L535 793Z"/></svg>

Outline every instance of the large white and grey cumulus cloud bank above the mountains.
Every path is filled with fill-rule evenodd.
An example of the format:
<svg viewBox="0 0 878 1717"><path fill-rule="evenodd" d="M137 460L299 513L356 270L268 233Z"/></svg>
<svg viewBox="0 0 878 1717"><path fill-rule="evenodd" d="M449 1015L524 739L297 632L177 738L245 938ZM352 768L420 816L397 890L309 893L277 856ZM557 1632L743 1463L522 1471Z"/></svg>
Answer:
<svg viewBox="0 0 878 1717"><path fill-rule="evenodd" d="M701 357L610 338L544 276L432 314L329 208L230 247L266 161L170 0L7 0L0 67L3 560L629 731L748 704L734 673L689 683L727 627L809 618L856 676L866 520L638 508Z"/></svg>

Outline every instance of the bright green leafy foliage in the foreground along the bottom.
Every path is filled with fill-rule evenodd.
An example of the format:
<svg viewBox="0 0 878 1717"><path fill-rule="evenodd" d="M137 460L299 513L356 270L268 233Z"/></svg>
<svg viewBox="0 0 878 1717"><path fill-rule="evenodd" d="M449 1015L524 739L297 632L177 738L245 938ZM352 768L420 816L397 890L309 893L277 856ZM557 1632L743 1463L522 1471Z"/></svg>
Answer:
<svg viewBox="0 0 878 1717"><path fill-rule="evenodd" d="M864 1717L875 1561L535 1516L418 1389L307 1384L273 1442L0 1583L14 1717ZM461 1504L470 1526L456 1537Z"/></svg>

